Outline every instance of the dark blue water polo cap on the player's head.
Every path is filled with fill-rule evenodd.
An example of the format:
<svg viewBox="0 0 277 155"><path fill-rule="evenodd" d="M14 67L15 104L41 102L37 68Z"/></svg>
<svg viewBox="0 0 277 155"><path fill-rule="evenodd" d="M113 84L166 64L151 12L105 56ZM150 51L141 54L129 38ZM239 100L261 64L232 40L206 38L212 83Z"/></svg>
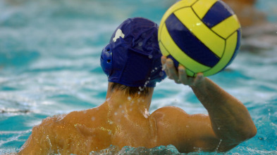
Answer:
<svg viewBox="0 0 277 155"><path fill-rule="evenodd" d="M109 82L130 87L155 87L166 78L162 71L158 25L145 18L129 18L101 53L101 67Z"/></svg>

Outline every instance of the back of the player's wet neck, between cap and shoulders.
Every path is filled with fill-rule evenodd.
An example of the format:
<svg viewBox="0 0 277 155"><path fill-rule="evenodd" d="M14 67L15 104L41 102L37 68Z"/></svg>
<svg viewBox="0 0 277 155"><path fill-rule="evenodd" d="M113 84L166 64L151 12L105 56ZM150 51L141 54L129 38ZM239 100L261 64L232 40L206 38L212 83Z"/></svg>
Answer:
<svg viewBox="0 0 277 155"><path fill-rule="evenodd" d="M154 88L150 88L149 94L146 96L131 96L125 94L124 90L111 90L109 83L109 88L106 94L106 102L104 102L104 104L108 105L109 107L112 107L113 109L128 108L133 109L133 112L144 112L145 109L147 109L148 112L153 92Z"/></svg>

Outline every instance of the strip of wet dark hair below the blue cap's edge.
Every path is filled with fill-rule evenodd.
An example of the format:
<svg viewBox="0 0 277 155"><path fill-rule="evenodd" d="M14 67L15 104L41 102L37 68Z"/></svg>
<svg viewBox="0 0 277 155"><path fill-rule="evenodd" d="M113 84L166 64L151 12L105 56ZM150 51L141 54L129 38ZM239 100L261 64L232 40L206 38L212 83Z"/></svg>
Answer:
<svg viewBox="0 0 277 155"><path fill-rule="evenodd" d="M130 96L147 96L149 95L149 87L129 87L121 83L111 83L111 90L123 90L125 95Z"/></svg>

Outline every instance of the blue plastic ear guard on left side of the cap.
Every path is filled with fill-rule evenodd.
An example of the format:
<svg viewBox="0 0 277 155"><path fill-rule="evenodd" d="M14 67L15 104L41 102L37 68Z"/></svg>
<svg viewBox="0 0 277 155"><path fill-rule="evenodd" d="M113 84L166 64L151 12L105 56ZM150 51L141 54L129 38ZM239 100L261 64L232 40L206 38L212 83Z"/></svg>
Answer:
<svg viewBox="0 0 277 155"><path fill-rule="evenodd" d="M101 62L102 70L109 77L111 75L111 69L113 65L113 52L111 51L110 44L108 44L103 48L100 62Z"/></svg>

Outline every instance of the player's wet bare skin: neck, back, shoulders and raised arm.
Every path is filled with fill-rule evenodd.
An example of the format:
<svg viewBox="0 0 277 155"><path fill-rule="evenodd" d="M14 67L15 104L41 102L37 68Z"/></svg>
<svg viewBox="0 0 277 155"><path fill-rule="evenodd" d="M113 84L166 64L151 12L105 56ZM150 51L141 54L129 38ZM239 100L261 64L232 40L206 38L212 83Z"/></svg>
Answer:
<svg viewBox="0 0 277 155"><path fill-rule="evenodd" d="M192 88L206 114L187 114L178 107L162 107L149 114L154 88L147 96L111 90L106 102L82 112L42 121L32 130L19 154L89 154L117 147L156 147L173 144L180 152L228 151L257 133L242 103L204 77L188 77L185 67L161 58L168 78Z"/></svg>

